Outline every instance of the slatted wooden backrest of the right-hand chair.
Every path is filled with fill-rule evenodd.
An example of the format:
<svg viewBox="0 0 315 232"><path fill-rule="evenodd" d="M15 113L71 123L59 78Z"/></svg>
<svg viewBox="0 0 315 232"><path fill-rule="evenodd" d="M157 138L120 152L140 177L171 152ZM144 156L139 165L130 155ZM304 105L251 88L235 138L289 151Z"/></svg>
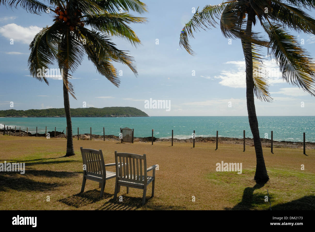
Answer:
<svg viewBox="0 0 315 232"><path fill-rule="evenodd" d="M117 153L115 151L115 162L116 178L118 180L146 184L146 154L141 156L132 153Z"/></svg>

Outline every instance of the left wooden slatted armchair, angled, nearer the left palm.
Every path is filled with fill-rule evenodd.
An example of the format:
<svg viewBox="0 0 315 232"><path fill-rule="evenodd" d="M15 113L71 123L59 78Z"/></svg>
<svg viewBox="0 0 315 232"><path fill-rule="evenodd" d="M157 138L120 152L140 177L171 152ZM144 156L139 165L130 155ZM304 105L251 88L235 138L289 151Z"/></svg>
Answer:
<svg viewBox="0 0 315 232"><path fill-rule="evenodd" d="M116 163L104 163L102 150L87 149L81 146L81 155L83 160L83 181L81 192L84 191L86 180L94 180L99 182L100 197L104 194L106 180L116 177L115 172L106 171L105 167L115 166ZM119 165L120 166L120 165Z"/></svg>

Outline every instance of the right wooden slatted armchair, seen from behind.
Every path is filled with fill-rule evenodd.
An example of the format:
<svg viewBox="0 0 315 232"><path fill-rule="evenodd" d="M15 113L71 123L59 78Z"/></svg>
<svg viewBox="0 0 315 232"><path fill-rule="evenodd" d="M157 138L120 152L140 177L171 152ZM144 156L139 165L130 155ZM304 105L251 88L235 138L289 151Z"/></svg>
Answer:
<svg viewBox="0 0 315 232"><path fill-rule="evenodd" d="M142 205L144 205L146 202L146 188L151 182L152 197L154 196L155 168L157 165L146 168L146 154L141 156L131 153L117 153L117 151L115 151L115 162L117 175L114 200L117 198L120 186L126 186L127 194L129 193L129 187L143 189ZM120 163L125 165L119 165ZM147 172L151 170L153 170L152 176L147 176Z"/></svg>

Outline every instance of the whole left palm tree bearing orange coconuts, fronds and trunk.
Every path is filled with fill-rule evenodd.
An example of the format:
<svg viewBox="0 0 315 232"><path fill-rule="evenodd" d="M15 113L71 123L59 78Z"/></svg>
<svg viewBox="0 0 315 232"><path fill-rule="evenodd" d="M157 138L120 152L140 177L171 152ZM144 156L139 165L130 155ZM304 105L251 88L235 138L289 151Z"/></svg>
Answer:
<svg viewBox="0 0 315 232"><path fill-rule="evenodd" d="M47 76L40 70L48 69L56 61L62 70L63 96L68 127L65 156L74 155L69 93L75 98L69 82L86 53L97 71L115 86L120 80L112 61L126 64L135 75L136 66L128 51L117 49L111 36L128 40L132 45L140 39L129 27L130 23L144 23L146 18L135 17L129 10L143 14L146 4L139 0L50 0L49 6L36 0L0 0L0 4L20 7L34 14L49 12L53 24L41 30L30 44L28 59L31 75L47 84ZM49 7L49 8L48 8ZM75 98L76 99L76 98Z"/></svg>

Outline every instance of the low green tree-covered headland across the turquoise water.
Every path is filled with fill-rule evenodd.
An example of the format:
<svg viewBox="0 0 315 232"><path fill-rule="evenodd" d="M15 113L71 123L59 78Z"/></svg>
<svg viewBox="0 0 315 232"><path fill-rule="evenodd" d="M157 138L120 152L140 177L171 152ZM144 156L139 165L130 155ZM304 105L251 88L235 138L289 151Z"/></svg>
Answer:
<svg viewBox="0 0 315 232"><path fill-rule="evenodd" d="M0 110L0 117L66 117L64 108ZM71 109L71 117L149 117L134 107L104 107Z"/></svg>

